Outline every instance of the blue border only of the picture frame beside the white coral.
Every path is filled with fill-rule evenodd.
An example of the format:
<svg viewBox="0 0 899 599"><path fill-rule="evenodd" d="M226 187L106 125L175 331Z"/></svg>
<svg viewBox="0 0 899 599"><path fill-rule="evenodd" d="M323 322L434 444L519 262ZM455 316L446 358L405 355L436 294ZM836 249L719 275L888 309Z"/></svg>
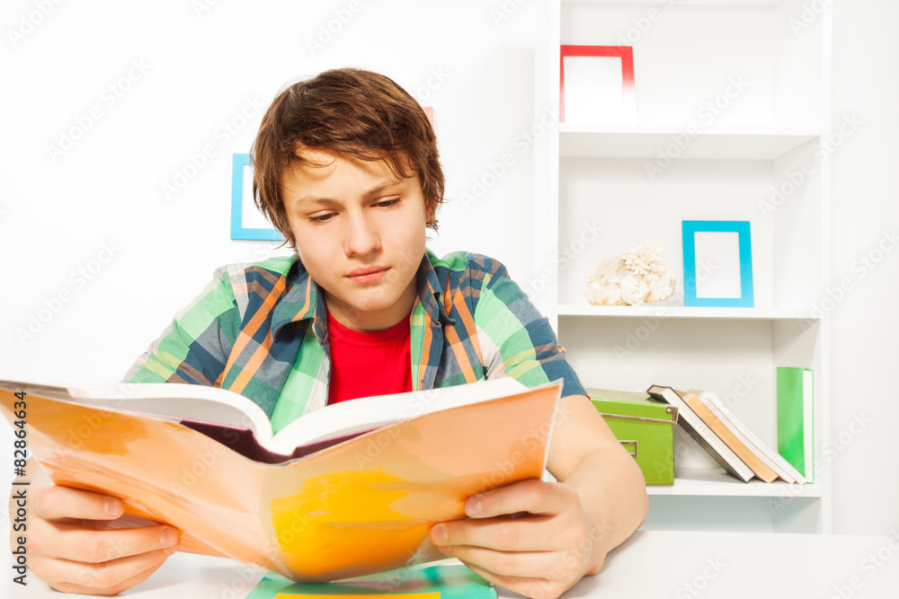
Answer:
<svg viewBox="0 0 899 599"><path fill-rule="evenodd" d="M752 308L754 304L752 290L752 239L750 236L749 221L696 221L685 220L681 222L683 235L683 304L685 306L701 307L739 307ZM697 255L696 233L737 233L739 251L739 280L740 293L738 296L709 297L705 293L697 296ZM729 272L719 272L717 276L736 276L733 272L734 265L725 265ZM699 276L709 277L714 273L714 268L708 265L699 266ZM701 280L701 279L700 279Z"/></svg>

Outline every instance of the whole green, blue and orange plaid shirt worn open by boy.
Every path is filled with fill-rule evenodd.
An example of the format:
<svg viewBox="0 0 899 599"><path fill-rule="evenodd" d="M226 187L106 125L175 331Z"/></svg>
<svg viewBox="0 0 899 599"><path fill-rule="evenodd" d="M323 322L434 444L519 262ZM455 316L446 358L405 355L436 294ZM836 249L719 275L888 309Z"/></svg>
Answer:
<svg viewBox="0 0 899 599"><path fill-rule="evenodd" d="M129 372L129 383L194 383L259 404L277 432L325 406L330 357L322 289L297 255L216 270ZM411 316L415 391L513 376L585 394L547 319L498 262L426 251Z"/></svg>

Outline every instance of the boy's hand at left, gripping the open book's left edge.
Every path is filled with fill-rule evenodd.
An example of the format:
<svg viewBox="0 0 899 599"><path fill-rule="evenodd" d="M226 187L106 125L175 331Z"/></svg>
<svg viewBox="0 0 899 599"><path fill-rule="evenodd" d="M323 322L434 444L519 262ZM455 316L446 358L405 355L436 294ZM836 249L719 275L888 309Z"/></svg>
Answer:
<svg viewBox="0 0 899 599"><path fill-rule="evenodd" d="M124 511L120 499L49 482L36 489L35 498L25 533L29 568L58 591L116 595L178 550L179 534L171 526L95 530L85 525L84 520L118 518ZM22 533L13 531L11 537L17 534Z"/></svg>

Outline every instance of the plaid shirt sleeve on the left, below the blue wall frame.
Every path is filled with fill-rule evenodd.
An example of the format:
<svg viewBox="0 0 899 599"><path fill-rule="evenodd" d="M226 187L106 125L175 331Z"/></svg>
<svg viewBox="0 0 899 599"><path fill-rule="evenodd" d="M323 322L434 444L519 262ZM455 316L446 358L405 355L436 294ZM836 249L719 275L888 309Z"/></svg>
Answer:
<svg viewBox="0 0 899 599"><path fill-rule="evenodd" d="M226 269L173 322L125 374L126 383L214 386L236 339L239 313Z"/></svg>

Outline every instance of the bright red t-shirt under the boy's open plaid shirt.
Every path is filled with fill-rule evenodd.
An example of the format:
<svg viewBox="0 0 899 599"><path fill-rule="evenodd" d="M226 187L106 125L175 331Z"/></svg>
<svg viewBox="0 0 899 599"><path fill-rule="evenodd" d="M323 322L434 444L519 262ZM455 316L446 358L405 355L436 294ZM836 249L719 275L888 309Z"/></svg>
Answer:
<svg viewBox="0 0 899 599"><path fill-rule="evenodd" d="M347 329L328 314L331 383L328 404L412 391L409 319L387 330Z"/></svg>

